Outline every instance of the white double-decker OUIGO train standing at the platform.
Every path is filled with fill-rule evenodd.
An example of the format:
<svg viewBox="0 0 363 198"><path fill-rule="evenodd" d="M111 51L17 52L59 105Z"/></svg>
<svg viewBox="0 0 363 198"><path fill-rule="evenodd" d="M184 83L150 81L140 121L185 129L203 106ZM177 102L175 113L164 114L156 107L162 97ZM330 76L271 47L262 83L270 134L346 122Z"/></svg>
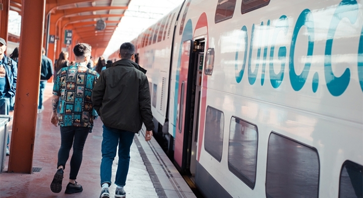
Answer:
<svg viewBox="0 0 363 198"><path fill-rule="evenodd" d="M204 197L362 198L362 0L185 0L132 43Z"/></svg>

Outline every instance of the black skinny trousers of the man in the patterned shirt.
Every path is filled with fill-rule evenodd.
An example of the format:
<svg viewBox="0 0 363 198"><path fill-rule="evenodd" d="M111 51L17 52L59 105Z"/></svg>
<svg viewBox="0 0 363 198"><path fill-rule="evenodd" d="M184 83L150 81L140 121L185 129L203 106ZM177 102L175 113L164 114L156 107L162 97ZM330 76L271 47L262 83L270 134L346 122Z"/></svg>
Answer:
<svg viewBox="0 0 363 198"><path fill-rule="evenodd" d="M77 179L78 171L82 163L84 143L86 142L90 129L89 127L60 127L61 143L58 151L57 168L63 166L65 169L65 163L69 158L69 151L73 145L73 154L69 164L69 179Z"/></svg>

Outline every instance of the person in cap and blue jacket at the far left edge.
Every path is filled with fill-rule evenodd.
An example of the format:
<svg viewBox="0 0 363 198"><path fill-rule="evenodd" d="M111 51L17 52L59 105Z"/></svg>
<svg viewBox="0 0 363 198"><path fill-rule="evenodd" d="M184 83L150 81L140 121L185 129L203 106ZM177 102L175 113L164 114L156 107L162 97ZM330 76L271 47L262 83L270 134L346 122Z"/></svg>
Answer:
<svg viewBox="0 0 363 198"><path fill-rule="evenodd" d="M18 67L15 60L5 55L6 42L0 38L0 114L9 115L10 99L15 96ZM9 151L9 135L7 136L6 155Z"/></svg>

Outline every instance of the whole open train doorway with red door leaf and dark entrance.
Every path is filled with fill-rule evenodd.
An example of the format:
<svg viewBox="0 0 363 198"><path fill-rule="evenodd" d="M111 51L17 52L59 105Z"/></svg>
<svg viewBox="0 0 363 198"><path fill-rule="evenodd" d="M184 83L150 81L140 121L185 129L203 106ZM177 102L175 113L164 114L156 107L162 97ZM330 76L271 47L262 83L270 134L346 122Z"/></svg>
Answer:
<svg viewBox="0 0 363 198"><path fill-rule="evenodd" d="M204 39L182 44L174 159L182 173L195 174Z"/></svg>

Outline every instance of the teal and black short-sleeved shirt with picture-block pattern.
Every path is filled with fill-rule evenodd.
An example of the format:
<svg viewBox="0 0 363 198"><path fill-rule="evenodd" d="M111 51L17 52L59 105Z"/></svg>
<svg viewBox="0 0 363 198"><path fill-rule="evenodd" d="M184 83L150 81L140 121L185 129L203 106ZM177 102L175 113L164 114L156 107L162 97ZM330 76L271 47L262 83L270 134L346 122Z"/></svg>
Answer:
<svg viewBox="0 0 363 198"><path fill-rule="evenodd" d="M91 100L92 90L99 75L86 64L76 62L57 73L53 94L60 96L59 125L92 127L95 115Z"/></svg>

